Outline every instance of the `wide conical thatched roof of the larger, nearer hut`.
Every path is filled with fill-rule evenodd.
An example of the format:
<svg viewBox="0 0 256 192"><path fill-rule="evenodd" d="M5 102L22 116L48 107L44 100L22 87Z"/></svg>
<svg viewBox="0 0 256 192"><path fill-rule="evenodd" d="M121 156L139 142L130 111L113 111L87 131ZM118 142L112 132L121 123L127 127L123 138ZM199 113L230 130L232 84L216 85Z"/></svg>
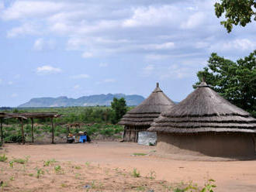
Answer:
<svg viewBox="0 0 256 192"><path fill-rule="evenodd" d="M202 82L182 102L161 113L148 130L170 133L255 132L256 119Z"/></svg>

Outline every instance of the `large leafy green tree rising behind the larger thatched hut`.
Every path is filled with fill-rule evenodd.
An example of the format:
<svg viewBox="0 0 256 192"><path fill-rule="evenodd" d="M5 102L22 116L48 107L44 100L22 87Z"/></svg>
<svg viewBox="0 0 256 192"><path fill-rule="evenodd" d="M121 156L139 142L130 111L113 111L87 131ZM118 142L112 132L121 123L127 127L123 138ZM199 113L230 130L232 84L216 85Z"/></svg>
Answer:
<svg viewBox="0 0 256 192"><path fill-rule="evenodd" d="M256 50L244 59L227 60L212 53L208 67L197 73L206 83L232 104L256 117ZM199 84L197 82L193 87Z"/></svg>

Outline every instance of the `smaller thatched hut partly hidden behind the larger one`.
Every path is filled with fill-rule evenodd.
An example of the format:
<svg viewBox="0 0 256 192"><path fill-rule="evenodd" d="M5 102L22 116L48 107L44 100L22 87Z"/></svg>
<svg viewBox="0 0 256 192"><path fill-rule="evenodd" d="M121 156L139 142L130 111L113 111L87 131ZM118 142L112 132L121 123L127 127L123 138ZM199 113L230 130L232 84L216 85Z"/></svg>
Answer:
<svg viewBox="0 0 256 192"><path fill-rule="evenodd" d="M168 111L175 103L157 87L140 105L128 111L119 125L125 125L123 141L137 142L138 132L145 131L162 111Z"/></svg>

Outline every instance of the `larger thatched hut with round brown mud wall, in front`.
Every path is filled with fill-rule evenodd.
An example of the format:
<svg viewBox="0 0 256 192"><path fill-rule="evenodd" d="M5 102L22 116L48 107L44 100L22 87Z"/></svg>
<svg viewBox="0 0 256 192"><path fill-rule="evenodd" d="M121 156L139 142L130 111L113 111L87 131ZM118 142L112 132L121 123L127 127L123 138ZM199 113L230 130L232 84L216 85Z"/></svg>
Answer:
<svg viewBox="0 0 256 192"><path fill-rule="evenodd" d="M157 150L207 156L254 156L256 119L230 104L205 82L148 131L157 132Z"/></svg>

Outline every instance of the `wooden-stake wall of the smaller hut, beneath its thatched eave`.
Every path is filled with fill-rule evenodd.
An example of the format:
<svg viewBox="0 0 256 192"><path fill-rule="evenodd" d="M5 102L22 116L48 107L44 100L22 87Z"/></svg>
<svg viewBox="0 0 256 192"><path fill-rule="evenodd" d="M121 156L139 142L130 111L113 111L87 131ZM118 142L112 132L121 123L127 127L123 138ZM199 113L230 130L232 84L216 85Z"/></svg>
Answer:
<svg viewBox="0 0 256 192"><path fill-rule="evenodd" d="M123 141L124 142L138 142L138 135L139 132L146 131L149 129L149 125L145 126L131 126L131 125L126 125L124 127L123 131Z"/></svg>

